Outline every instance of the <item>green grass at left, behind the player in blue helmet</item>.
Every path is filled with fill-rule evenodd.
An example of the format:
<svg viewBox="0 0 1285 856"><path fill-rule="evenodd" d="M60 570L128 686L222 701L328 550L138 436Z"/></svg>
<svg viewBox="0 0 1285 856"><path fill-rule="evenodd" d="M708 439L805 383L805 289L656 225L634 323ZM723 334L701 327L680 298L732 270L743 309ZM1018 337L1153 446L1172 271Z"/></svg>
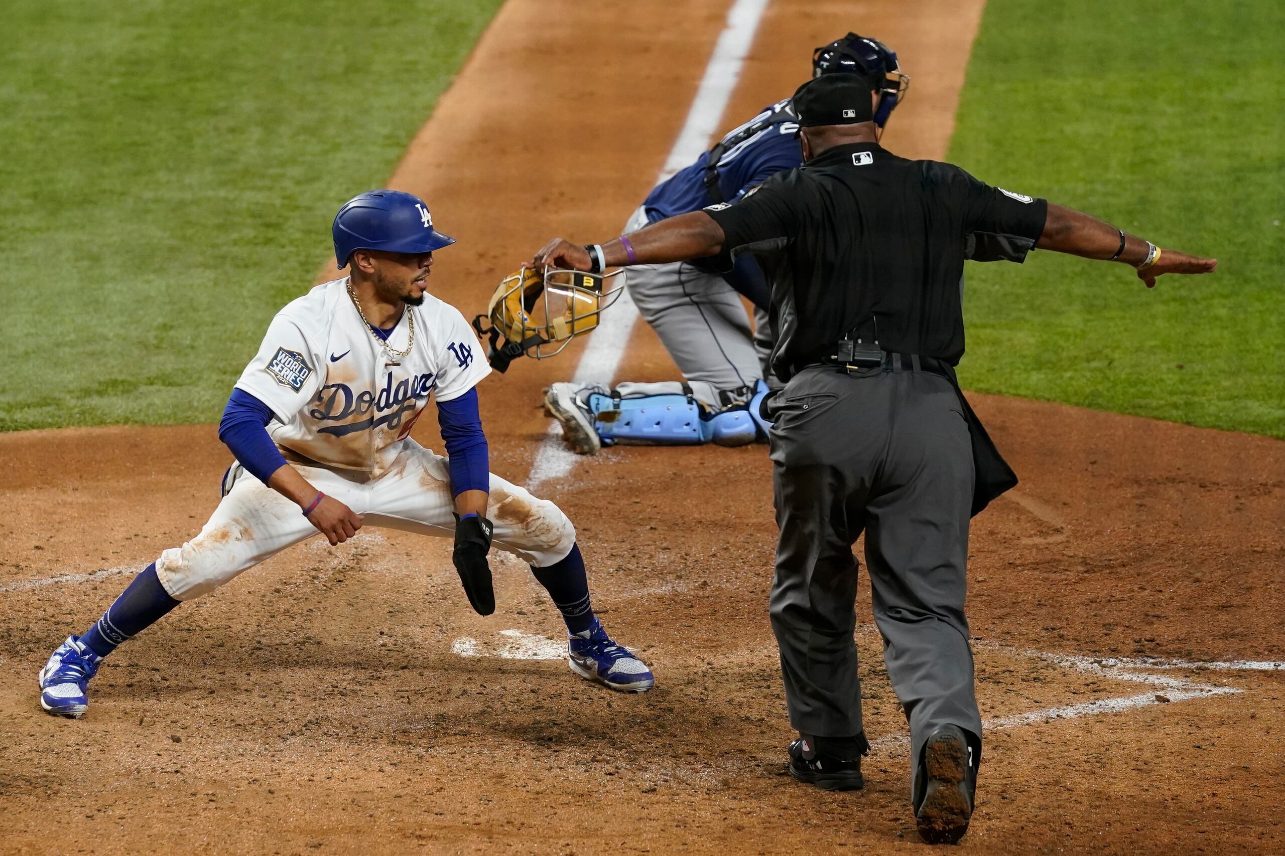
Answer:
<svg viewBox="0 0 1285 856"><path fill-rule="evenodd" d="M217 420L500 0L17 0L0 430Z"/></svg>

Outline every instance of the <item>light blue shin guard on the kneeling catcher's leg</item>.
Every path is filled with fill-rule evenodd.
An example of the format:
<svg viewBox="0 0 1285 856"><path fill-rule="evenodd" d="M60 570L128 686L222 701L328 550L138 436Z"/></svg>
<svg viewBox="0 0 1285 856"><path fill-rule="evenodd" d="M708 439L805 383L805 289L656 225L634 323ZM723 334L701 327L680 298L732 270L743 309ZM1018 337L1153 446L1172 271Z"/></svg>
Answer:
<svg viewBox="0 0 1285 856"><path fill-rule="evenodd" d="M603 445L637 443L648 445L747 445L767 435L771 425L756 418L757 404L767 385L750 404L709 413L690 395L637 395L616 398L594 393L589 409Z"/></svg>

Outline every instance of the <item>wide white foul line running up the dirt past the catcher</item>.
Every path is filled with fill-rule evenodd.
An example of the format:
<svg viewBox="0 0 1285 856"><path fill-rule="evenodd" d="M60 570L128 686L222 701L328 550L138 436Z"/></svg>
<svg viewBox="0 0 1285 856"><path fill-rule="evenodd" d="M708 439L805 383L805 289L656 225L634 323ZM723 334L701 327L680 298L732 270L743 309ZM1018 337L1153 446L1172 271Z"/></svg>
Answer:
<svg viewBox="0 0 1285 856"><path fill-rule="evenodd" d="M696 96L687 110L687 119L678 132L678 139L673 141L673 148L669 149L669 158L657 176L657 184L699 158L709 145L709 139L718 130L731 91L740 80L745 54L749 53L766 8L767 0L736 0L727 10L727 23L718 35L714 53L705 65ZM616 371L619 368L637 317L637 307L626 291L610 311L603 313L598 330L589 338L589 345L576 366L573 382L609 385L616 379ZM562 441L562 429L554 422L536 450L536 459L527 476L527 489L533 490L550 479L565 476L578 457L567 450Z"/></svg>

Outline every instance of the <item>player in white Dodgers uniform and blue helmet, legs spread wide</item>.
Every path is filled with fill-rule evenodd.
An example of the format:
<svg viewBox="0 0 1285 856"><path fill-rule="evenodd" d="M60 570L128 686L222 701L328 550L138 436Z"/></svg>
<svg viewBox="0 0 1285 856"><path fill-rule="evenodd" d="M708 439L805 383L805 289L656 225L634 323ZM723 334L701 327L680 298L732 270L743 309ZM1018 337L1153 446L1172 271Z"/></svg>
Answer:
<svg viewBox="0 0 1285 856"><path fill-rule="evenodd" d="M454 535L470 604L495 611L492 543L532 566L567 622L568 662L612 689L654 679L594 616L576 530L551 502L488 472L475 386L491 371L460 312L427 293L438 232L423 200L378 190L335 216L335 258L350 276L287 304L245 367L220 424L236 461L191 540L161 553L103 616L68 637L40 671L40 703L80 717L103 658L182 601L280 551L362 526ZM410 438L436 399L447 457ZM301 513L302 512L302 513Z"/></svg>

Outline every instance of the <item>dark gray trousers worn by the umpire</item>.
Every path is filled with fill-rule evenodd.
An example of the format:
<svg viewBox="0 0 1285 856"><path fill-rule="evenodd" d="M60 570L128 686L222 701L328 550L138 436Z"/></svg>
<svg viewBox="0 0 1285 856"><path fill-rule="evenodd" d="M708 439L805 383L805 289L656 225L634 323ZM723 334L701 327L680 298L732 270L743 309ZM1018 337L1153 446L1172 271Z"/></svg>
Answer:
<svg viewBox="0 0 1285 856"><path fill-rule="evenodd" d="M861 734L852 544L865 530L875 624L917 760L939 725L982 734L964 617L973 453L950 381L900 363L806 368L772 400L771 619L790 724Z"/></svg>

